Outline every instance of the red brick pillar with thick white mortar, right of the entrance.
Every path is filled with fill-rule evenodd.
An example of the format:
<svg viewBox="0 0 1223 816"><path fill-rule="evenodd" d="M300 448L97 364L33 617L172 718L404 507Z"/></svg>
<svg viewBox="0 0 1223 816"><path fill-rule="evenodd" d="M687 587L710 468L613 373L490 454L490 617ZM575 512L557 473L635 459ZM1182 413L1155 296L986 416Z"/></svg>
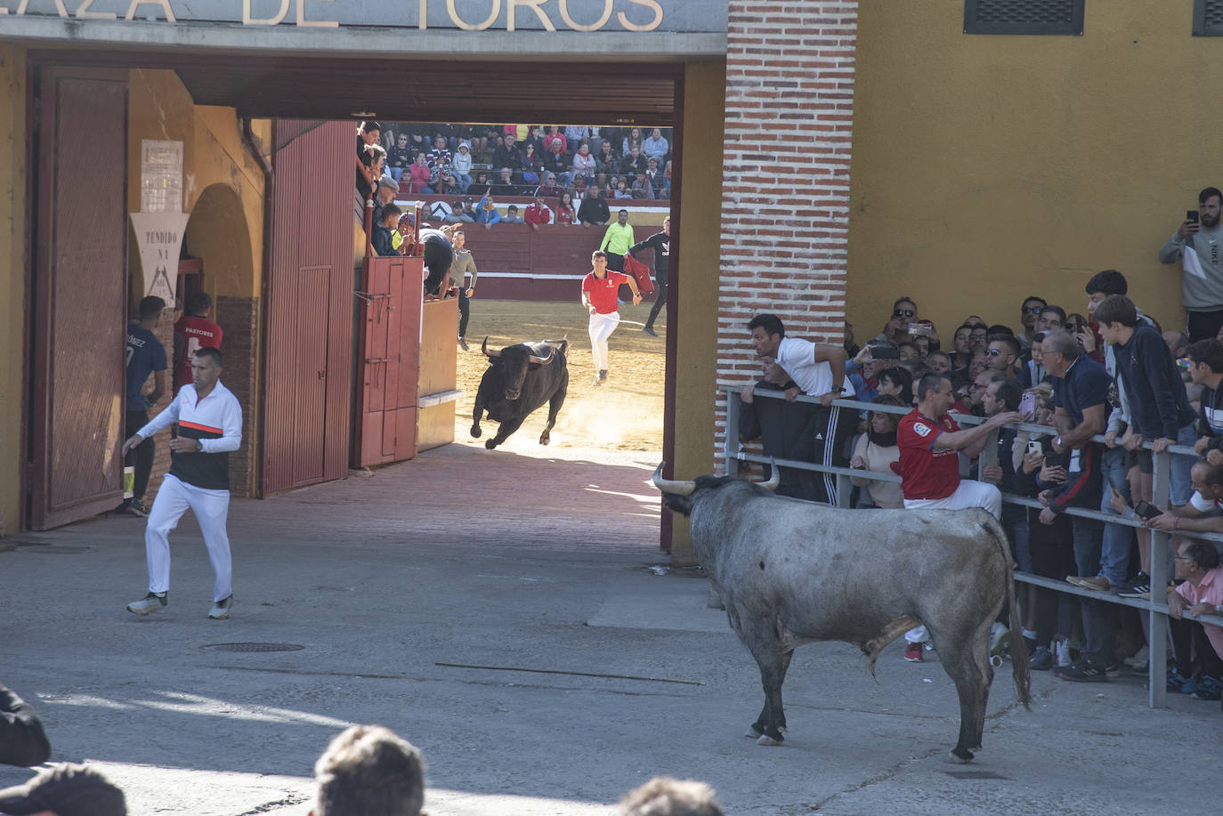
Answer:
<svg viewBox="0 0 1223 816"><path fill-rule="evenodd" d="M753 314L841 341L856 37L856 0L730 2L719 383L758 372L745 328Z"/></svg>

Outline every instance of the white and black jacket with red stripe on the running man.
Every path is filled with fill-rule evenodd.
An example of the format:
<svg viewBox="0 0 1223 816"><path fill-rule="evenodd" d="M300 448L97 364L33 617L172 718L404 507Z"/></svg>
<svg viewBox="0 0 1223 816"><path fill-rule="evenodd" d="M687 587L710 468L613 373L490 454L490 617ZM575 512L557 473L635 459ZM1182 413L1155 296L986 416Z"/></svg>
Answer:
<svg viewBox="0 0 1223 816"><path fill-rule="evenodd" d="M202 451L171 453L170 475L207 491L229 489L229 451L242 444L242 406L220 380L204 399L196 396L194 385L183 385L166 410L137 431L148 439L171 422L179 423L179 436L198 439Z"/></svg>

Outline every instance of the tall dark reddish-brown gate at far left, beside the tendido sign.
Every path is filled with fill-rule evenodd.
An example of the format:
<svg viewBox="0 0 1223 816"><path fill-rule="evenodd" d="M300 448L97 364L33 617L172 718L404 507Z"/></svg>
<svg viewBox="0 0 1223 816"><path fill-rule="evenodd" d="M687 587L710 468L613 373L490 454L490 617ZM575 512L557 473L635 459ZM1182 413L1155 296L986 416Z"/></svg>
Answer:
<svg viewBox="0 0 1223 816"><path fill-rule="evenodd" d="M127 72L44 69L28 431L34 530L122 500Z"/></svg>

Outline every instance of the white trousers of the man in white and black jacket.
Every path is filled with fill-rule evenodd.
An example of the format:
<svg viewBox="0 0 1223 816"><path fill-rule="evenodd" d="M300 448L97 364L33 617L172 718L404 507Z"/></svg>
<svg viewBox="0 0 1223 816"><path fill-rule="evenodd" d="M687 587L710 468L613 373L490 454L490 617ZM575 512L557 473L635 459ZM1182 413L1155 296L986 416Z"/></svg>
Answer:
<svg viewBox="0 0 1223 816"><path fill-rule="evenodd" d="M166 473L161 489L153 499L148 525L144 527L144 552L149 562L149 592L170 588L170 531L179 526L179 519L187 510L196 514L199 530L204 533L208 558L216 574L213 601L224 601L234 593L230 564L229 535L225 519L229 516L229 491L205 491Z"/></svg>

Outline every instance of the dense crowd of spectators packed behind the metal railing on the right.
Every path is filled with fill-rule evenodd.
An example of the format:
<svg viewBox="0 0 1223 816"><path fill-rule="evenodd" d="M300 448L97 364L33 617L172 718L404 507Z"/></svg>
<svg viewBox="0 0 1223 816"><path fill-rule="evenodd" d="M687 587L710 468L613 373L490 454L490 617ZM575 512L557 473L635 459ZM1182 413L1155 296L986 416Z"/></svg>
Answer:
<svg viewBox="0 0 1223 816"><path fill-rule="evenodd" d="M1203 230L1217 225L1221 201L1218 190L1202 191ZM1213 242L1197 248L1186 234L1195 230L1174 234L1159 258L1210 252ZM1223 297L1191 303L1186 289L1186 334L1136 306L1119 272L1095 274L1084 294L1082 312L1032 295L1016 303L1015 328L970 314L950 336L901 296L861 345L850 324L834 346L788 338L777 317L757 316L747 328L762 368L740 394L740 442L862 471L841 505L983 508L1002 522L1019 570L1086 591L1021 584L1022 619L996 624L993 653L1021 632L1030 667L1064 680L1107 681L1126 664L1145 673L1139 613L1096 598L1155 593L1168 603L1168 691L1218 701L1223 628L1196 618L1223 615L1223 568L1219 547L1196 536L1223 533L1223 319L1212 319L1223 317ZM763 390L785 399L758 399ZM800 402L800 393L819 399ZM835 398L887 410L835 409ZM956 412L985 422L961 431ZM985 465L993 458L978 455L994 428L997 464ZM1167 492L1155 495L1153 454L1173 447ZM838 503L835 478L779 470L779 493ZM1003 503L1003 493L1040 506ZM1117 521L1068 513L1074 508ZM1152 530L1172 535L1167 586L1151 586ZM910 661L936 646L920 626L906 639Z"/></svg>

